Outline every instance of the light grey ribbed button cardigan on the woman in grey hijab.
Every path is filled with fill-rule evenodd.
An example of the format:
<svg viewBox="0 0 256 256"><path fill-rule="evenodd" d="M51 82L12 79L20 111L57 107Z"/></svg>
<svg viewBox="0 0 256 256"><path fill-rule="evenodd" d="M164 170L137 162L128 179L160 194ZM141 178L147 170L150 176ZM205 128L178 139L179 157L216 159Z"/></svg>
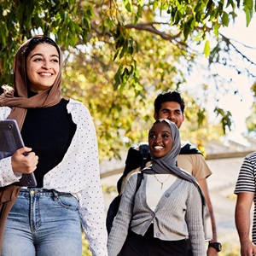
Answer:
<svg viewBox="0 0 256 256"><path fill-rule="evenodd" d="M189 237L193 255L205 256L201 196L195 185L178 177L168 189L163 191L153 212L146 201L147 174L144 174L135 196L136 184L137 173L132 174L125 185L119 212L108 237L108 255L118 255L125 243L129 226L137 235L144 236L149 225L153 223L154 237L164 241Z"/></svg>

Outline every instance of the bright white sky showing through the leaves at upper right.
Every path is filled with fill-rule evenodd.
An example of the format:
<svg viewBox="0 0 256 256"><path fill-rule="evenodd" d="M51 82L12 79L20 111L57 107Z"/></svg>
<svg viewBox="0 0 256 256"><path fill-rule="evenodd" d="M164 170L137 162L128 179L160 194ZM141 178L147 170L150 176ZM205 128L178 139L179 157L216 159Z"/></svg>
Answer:
<svg viewBox="0 0 256 256"><path fill-rule="evenodd" d="M256 14L254 14L253 20L251 20L249 26L246 26L246 17L244 13L241 12L237 16L235 24L230 24L227 28L222 28L220 32L224 34L225 37L233 39L232 42L236 44L236 47L242 49L243 53L250 57L252 61L256 62ZM236 43L236 41L239 43ZM245 49L240 43L250 46L251 48ZM244 65L243 62L234 64ZM254 74L256 75L256 67L254 67L253 70L255 70ZM229 110L232 113L232 119L234 121L232 131L228 131L228 137L236 140L236 142L245 143L242 133L246 131L245 119L252 113L251 107L253 104L253 94L250 88L255 80L247 79L247 76L234 73L231 70L226 70L224 67L217 68L215 72L221 73L224 77L230 80L230 84L228 84L230 93L226 94L222 91L222 88L219 88L218 93L218 107L224 108L225 111ZM195 71L194 75L189 77L189 88L192 86L191 91L195 96L199 96L201 93L198 90L197 84L205 83L206 80L203 79L205 78L203 78L200 68ZM194 88L193 84L195 85ZM213 91L215 94L216 85L210 84L210 87L212 87L213 99ZM238 93L234 94L234 91L237 91ZM209 97L211 97L211 93L209 94ZM215 106L216 101L211 101L211 98L207 100L207 106L204 106L208 110L210 119L216 119L216 113L213 113Z"/></svg>

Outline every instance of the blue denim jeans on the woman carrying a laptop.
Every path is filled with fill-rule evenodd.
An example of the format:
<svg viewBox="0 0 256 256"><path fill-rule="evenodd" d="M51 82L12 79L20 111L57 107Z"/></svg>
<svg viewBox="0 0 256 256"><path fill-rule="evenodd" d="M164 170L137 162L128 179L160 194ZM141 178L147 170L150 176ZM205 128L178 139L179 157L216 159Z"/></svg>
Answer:
<svg viewBox="0 0 256 256"><path fill-rule="evenodd" d="M20 189L6 222L2 256L80 256L79 202L71 194Z"/></svg>

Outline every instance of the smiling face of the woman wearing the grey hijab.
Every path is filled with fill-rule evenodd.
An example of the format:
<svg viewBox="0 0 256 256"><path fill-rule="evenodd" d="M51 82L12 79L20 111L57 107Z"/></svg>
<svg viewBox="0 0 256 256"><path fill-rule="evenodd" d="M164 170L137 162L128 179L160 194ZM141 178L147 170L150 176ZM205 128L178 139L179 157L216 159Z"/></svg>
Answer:
<svg viewBox="0 0 256 256"><path fill-rule="evenodd" d="M151 154L160 158L168 154L172 149L172 131L166 122L156 123L148 134L148 145Z"/></svg>

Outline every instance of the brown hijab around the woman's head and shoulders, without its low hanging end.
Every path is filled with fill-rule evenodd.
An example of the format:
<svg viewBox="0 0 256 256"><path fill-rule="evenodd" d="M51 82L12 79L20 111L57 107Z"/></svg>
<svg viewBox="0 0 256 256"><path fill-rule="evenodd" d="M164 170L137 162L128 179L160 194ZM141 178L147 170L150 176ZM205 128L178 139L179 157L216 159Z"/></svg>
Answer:
<svg viewBox="0 0 256 256"><path fill-rule="evenodd" d="M44 35L38 35L34 38L27 40L21 44L15 55L14 63L14 90L7 90L0 96L0 107L12 108L8 119L16 119L20 130L26 117L27 108L48 108L56 105L61 101L61 67L62 55L61 50L55 42L48 38L55 44L56 49L60 55L60 72L58 73L55 83L49 88L38 93L36 96L27 97L27 78L26 78L26 49L29 49L30 44L34 43L38 38L48 38ZM42 43L38 43L42 44ZM45 44L45 43L44 43ZM47 43L46 43L47 44Z"/></svg>

